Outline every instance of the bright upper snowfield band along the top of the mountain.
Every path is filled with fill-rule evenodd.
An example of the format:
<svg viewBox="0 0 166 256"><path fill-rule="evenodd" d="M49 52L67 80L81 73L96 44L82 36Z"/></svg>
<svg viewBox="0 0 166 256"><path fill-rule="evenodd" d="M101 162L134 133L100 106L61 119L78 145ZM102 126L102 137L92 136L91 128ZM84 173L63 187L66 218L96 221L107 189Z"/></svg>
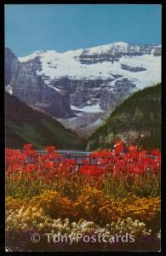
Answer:
<svg viewBox="0 0 166 256"><path fill-rule="evenodd" d="M123 42L89 49L36 51L20 57L20 62L40 60L37 75L46 84L66 76L68 79L117 79L117 76L135 81L144 87L160 79L161 46L138 46ZM144 71L144 72L143 72ZM140 75L141 72L141 75ZM142 73L143 72L143 73ZM149 74L151 73L151 76Z"/></svg>

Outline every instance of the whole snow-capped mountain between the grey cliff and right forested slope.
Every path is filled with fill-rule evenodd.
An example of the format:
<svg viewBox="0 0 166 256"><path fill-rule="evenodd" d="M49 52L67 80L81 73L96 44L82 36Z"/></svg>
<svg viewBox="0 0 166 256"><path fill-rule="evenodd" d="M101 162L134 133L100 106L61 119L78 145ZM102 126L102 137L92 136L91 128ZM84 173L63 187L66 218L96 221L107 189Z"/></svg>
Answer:
<svg viewBox="0 0 166 256"><path fill-rule="evenodd" d="M18 59L49 90L70 95L76 116L60 121L79 131L93 130L133 91L161 81L161 45L117 42L64 53L40 50Z"/></svg>

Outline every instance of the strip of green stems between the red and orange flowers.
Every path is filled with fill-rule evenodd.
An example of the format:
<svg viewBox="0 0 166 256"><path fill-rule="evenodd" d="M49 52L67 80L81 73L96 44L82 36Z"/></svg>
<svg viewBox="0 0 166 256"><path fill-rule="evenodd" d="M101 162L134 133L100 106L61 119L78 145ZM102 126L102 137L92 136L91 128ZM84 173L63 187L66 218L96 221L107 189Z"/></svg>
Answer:
<svg viewBox="0 0 166 256"><path fill-rule="evenodd" d="M102 187L89 182L84 183L80 177L76 179L61 177L60 180L54 179L47 183L44 178L40 179L13 179L13 177L6 177L6 195L13 198L25 199L32 198L35 195L41 195L43 191L53 190L58 191L62 196L66 196L72 200L76 200L81 195L83 189L89 188L91 185L93 189L101 189L105 195L110 195L112 198L118 199L128 195L136 195L138 197L156 197L161 194L160 173L153 175L148 174L146 177L126 178L106 176L103 180ZM90 185L89 185L90 184Z"/></svg>

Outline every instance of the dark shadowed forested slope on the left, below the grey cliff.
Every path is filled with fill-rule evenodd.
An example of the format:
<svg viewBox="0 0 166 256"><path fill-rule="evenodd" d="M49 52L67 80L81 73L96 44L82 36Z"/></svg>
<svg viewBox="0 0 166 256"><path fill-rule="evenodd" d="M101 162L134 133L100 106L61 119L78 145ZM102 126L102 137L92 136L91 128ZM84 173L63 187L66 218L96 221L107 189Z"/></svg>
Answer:
<svg viewBox="0 0 166 256"><path fill-rule="evenodd" d="M60 149L83 149L85 143L72 131L38 112L14 96L5 94L6 147L22 148L31 143L37 149L54 145Z"/></svg>

